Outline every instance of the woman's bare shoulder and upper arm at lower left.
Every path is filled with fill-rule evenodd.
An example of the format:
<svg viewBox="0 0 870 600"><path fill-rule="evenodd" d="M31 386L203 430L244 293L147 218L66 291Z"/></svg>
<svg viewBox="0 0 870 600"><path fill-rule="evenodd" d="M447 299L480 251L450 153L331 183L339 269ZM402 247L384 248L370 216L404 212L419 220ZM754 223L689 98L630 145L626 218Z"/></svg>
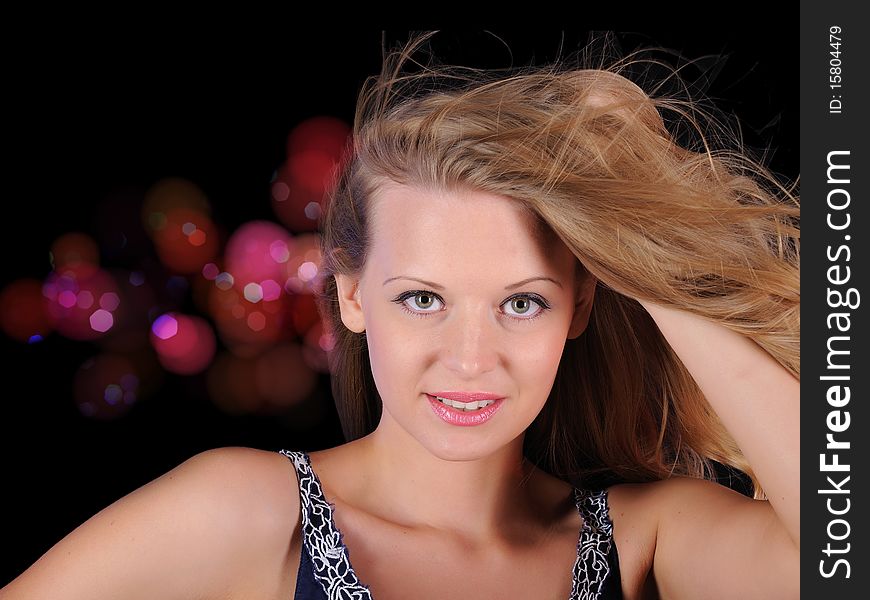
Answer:
<svg viewBox="0 0 870 600"><path fill-rule="evenodd" d="M0 598L287 597L298 514L286 457L207 450L85 521Z"/></svg>

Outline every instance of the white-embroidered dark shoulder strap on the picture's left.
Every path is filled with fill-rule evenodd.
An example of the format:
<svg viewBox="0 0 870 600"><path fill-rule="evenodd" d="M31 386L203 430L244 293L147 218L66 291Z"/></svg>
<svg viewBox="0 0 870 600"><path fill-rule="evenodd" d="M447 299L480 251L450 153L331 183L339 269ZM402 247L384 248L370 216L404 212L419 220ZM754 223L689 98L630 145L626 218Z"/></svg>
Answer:
<svg viewBox="0 0 870 600"><path fill-rule="evenodd" d="M350 564L347 547L332 517L334 506L323 495L323 486L311 468L308 454L301 450L280 453L293 462L299 479L302 542L311 555L315 578L329 598L371 600L368 586L360 583Z"/></svg>

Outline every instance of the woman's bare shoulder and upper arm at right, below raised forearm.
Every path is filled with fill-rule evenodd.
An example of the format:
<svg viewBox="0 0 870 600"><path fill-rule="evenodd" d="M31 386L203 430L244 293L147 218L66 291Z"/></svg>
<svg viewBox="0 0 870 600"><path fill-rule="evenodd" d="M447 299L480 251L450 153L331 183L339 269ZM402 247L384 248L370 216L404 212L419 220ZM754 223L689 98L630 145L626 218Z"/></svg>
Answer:
<svg viewBox="0 0 870 600"><path fill-rule="evenodd" d="M620 564L624 547L642 547L650 595L636 597L712 597L711 590L734 597L738 588L744 596L751 589L752 597L796 597L798 551L769 502L681 476L613 486L609 496Z"/></svg>

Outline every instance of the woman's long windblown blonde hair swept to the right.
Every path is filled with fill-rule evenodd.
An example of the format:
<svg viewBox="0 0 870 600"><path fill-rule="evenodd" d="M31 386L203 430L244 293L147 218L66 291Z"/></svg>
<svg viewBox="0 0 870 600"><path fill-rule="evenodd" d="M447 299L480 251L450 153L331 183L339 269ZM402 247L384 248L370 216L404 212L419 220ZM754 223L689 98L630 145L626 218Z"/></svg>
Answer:
<svg viewBox="0 0 870 600"><path fill-rule="evenodd" d="M589 326L566 344L525 456L587 486L672 474L712 479L716 461L746 473L764 497L632 298L747 336L799 377L796 183L780 184L697 102L653 97L621 75L632 57L507 75L411 60L434 33L385 55L380 75L363 85L348 160L322 221L318 306L336 340L332 386L345 437L370 433L381 407L365 334L341 325L332 277L365 265L369 199L385 181L471 188L522 203L598 279ZM409 60L419 73L402 73ZM679 145L663 115L692 127L696 147Z"/></svg>

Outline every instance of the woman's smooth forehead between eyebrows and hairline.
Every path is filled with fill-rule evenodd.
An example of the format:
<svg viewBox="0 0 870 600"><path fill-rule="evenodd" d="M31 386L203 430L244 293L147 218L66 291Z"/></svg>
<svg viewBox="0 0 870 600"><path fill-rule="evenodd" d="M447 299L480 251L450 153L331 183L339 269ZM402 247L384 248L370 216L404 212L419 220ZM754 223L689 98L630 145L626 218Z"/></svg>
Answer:
<svg viewBox="0 0 870 600"><path fill-rule="evenodd" d="M394 264L452 263L491 271L503 261L560 268L573 255L520 202L479 190L388 183L370 205L372 256Z"/></svg>

